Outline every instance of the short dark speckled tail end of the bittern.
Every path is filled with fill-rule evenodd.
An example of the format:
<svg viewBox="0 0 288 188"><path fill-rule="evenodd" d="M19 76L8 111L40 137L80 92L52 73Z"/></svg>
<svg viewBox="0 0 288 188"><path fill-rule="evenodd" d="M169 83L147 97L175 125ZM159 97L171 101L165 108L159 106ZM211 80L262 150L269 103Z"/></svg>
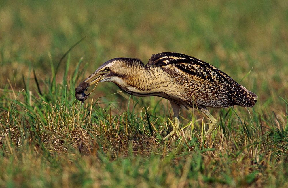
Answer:
<svg viewBox="0 0 288 188"><path fill-rule="evenodd" d="M237 87L236 95L233 96L234 102L242 107L253 107L257 102L258 96L243 86Z"/></svg>

